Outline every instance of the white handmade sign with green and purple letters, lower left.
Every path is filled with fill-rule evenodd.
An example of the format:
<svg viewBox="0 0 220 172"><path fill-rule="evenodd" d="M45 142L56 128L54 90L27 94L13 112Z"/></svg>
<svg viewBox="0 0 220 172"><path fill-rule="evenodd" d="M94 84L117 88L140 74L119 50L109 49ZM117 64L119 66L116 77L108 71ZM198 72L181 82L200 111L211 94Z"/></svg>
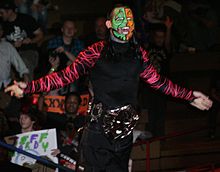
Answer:
<svg viewBox="0 0 220 172"><path fill-rule="evenodd" d="M9 144L15 143L14 146L19 149L58 163L57 157L51 155L51 150L57 149L56 129L38 130L17 134L15 136L9 136L5 138L5 140ZM27 164L35 164L36 160L15 152L11 158L11 162L26 166Z"/></svg>

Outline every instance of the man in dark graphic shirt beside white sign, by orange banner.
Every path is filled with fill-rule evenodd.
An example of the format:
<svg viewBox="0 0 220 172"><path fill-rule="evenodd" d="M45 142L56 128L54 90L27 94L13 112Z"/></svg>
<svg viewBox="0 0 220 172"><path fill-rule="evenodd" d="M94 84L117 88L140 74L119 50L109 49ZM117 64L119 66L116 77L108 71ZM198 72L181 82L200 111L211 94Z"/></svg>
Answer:
<svg viewBox="0 0 220 172"><path fill-rule="evenodd" d="M78 160L79 141L87 118L78 112L81 101L80 95L77 92L72 92L66 95L64 115L44 113L45 127L58 129L58 149L53 150L52 155L60 157L61 154L64 154L75 161ZM43 110L43 97L39 99L39 109ZM64 165L70 164L66 162Z"/></svg>

